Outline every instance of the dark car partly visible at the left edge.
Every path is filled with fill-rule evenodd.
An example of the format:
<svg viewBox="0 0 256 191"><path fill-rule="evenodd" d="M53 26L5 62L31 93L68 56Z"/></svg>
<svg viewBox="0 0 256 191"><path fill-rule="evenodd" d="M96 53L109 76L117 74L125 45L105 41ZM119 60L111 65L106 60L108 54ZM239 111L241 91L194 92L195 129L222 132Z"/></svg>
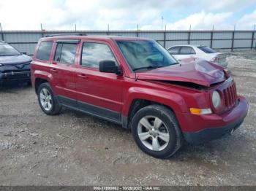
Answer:
<svg viewBox="0 0 256 191"><path fill-rule="evenodd" d="M31 57L0 41L0 85L30 82Z"/></svg>

